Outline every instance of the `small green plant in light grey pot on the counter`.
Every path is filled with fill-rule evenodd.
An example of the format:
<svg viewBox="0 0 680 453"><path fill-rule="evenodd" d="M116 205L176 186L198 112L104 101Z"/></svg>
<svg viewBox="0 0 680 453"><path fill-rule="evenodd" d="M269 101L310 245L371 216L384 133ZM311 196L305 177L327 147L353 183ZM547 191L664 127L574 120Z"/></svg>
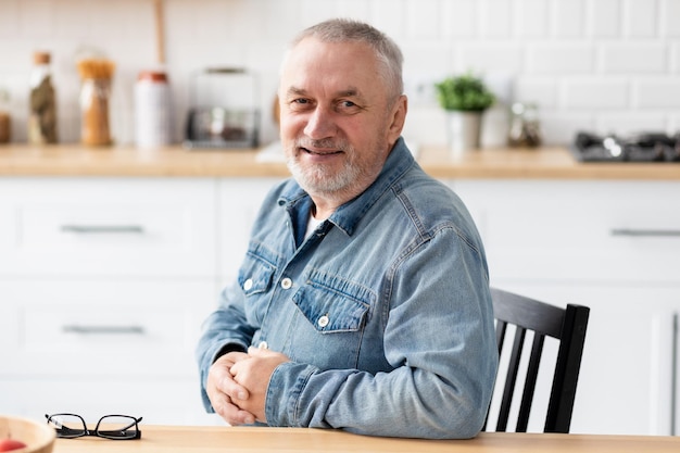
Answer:
<svg viewBox="0 0 680 453"><path fill-rule="evenodd" d="M471 72L446 77L435 88L439 104L446 111L452 152L479 148L482 113L495 102L493 92Z"/></svg>

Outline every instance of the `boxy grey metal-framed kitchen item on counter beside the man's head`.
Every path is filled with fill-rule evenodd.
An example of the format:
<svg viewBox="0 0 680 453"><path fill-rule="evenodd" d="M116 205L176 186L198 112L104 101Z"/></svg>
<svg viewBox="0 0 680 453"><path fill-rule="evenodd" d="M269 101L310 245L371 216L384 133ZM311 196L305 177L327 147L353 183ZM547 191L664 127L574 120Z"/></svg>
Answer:
<svg viewBox="0 0 680 453"><path fill-rule="evenodd" d="M207 68L197 74L185 148L256 148L260 136L257 83L242 68Z"/></svg>

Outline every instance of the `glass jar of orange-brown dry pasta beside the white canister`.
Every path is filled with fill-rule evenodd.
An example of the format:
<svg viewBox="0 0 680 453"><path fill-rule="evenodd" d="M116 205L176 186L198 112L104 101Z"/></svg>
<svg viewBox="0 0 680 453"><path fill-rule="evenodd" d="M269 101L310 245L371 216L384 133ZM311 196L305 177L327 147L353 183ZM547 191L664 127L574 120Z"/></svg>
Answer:
<svg viewBox="0 0 680 453"><path fill-rule="evenodd" d="M111 79L84 78L80 87L80 141L83 144L111 144L109 100Z"/></svg>

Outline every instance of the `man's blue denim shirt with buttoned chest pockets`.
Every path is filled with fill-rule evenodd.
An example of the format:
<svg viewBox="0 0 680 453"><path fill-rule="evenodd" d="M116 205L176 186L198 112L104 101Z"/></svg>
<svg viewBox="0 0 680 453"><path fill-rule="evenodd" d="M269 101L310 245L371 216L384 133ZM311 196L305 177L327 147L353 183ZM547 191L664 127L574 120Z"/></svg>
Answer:
<svg viewBox="0 0 680 453"><path fill-rule="evenodd" d="M498 354L484 251L463 202L400 139L377 180L297 247L308 203L293 180L264 201L238 285L197 349L206 410L219 349L264 341L291 358L269 381L269 426L476 436Z"/></svg>

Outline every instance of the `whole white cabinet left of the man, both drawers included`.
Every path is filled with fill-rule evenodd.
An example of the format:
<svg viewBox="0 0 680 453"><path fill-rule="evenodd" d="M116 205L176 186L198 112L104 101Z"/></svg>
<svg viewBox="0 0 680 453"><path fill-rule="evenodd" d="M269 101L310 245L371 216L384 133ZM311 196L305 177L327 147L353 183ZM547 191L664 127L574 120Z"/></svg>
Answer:
<svg viewBox="0 0 680 453"><path fill-rule="evenodd" d="M0 179L0 408L206 423L211 178Z"/></svg>

